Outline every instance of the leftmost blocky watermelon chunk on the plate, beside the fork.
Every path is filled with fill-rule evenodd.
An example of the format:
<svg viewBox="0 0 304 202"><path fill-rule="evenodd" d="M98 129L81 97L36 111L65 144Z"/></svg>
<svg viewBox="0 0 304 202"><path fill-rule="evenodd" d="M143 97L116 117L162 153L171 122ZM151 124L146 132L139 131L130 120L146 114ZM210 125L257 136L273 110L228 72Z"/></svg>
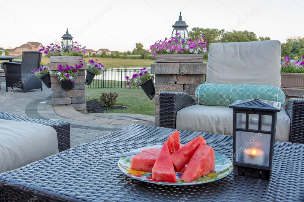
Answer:
<svg viewBox="0 0 304 202"><path fill-rule="evenodd" d="M158 148L157 148L158 149ZM131 157L130 169L136 171L152 172L152 167L156 161L157 154L143 152Z"/></svg>

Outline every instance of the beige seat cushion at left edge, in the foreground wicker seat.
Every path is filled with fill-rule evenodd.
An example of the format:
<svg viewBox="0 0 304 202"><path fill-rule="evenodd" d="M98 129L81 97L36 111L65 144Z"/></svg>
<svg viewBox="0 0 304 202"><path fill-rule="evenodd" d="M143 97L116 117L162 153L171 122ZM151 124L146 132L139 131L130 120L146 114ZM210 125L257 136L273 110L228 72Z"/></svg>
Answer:
<svg viewBox="0 0 304 202"><path fill-rule="evenodd" d="M58 152L57 133L54 128L0 119L0 173Z"/></svg>

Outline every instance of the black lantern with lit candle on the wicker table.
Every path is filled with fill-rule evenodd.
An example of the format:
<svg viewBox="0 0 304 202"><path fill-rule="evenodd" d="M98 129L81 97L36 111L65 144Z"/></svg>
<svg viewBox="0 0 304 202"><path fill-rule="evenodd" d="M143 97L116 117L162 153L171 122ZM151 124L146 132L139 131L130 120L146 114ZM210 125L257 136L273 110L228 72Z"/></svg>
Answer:
<svg viewBox="0 0 304 202"><path fill-rule="evenodd" d="M234 175L268 179L281 102L238 100L233 108Z"/></svg>

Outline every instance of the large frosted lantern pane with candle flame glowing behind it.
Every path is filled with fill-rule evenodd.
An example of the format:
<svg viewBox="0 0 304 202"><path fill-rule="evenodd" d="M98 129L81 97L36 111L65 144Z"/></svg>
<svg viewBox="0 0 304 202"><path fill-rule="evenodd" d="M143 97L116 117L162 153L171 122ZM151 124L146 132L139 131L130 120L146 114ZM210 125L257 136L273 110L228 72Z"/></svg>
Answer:
<svg viewBox="0 0 304 202"><path fill-rule="evenodd" d="M235 161L268 166L270 138L270 134L236 131Z"/></svg>

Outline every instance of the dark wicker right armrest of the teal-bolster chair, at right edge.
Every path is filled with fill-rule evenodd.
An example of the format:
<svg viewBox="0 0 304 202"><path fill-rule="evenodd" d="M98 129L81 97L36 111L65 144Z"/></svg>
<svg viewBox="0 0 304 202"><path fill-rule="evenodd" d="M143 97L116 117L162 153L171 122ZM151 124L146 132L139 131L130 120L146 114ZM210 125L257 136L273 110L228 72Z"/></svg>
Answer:
<svg viewBox="0 0 304 202"><path fill-rule="evenodd" d="M290 118L289 141L304 144L304 99L289 99L285 110Z"/></svg>

